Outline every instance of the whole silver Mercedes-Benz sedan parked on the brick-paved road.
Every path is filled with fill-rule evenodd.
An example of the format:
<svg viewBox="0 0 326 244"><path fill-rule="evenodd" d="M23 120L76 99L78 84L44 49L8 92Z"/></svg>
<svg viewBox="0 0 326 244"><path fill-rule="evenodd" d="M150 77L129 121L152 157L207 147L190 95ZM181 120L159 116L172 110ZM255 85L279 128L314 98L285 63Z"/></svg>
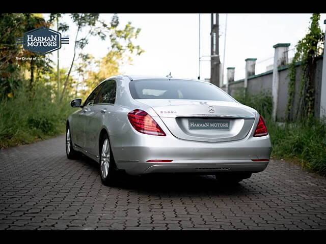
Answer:
<svg viewBox="0 0 326 244"><path fill-rule="evenodd" d="M119 171L239 182L269 162L263 117L209 82L114 76L71 106L79 109L67 119L67 157L82 153L98 162L104 185Z"/></svg>

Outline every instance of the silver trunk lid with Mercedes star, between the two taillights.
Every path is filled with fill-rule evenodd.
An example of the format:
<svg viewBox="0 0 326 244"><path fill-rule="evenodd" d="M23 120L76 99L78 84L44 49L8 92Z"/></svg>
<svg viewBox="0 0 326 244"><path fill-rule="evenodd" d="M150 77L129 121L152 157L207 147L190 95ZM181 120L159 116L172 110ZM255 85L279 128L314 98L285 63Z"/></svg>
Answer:
<svg viewBox="0 0 326 244"><path fill-rule="evenodd" d="M241 140L248 135L256 116L256 110L236 102L183 99L138 101L152 107L170 132L184 140L205 142ZM227 126L214 127L223 124Z"/></svg>

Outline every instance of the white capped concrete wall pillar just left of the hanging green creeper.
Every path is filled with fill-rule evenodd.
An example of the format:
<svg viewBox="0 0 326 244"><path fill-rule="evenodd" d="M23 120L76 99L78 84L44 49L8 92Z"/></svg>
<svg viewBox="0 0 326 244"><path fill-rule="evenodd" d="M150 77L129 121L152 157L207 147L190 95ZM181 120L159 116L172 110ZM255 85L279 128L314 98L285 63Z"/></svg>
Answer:
<svg viewBox="0 0 326 244"><path fill-rule="evenodd" d="M278 67L285 65L287 62L287 51L289 50L290 43L279 43L274 45L274 64L273 64L273 83L271 87L271 94L273 95L273 119L276 121L276 111L278 105L279 95L279 71Z"/></svg>

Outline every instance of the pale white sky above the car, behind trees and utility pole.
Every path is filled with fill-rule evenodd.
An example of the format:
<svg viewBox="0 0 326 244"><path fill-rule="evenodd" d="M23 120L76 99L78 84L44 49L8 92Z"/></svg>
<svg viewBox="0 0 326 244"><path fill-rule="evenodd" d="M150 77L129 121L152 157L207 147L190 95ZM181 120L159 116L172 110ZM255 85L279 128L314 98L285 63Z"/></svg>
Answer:
<svg viewBox="0 0 326 244"><path fill-rule="evenodd" d="M226 22L227 15L227 22ZM45 17L48 14L44 14ZM100 19L110 23L113 14L100 14ZM128 21L141 32L135 45L145 50L134 56L132 65L120 67L122 74L163 75L170 72L174 77L197 79L199 75L199 14L118 14L120 27ZM290 43L293 49L298 40L308 31L311 14L220 14L220 59L226 68L235 67L235 80L244 78L246 58L257 58L256 74L273 64L274 48L277 43ZM210 55L210 14L200 14L201 56ZM326 14L321 14L320 27L325 31ZM69 16L62 19L72 23ZM76 28L71 24L63 37L70 43L60 49L60 67L69 67L73 57L73 37ZM225 30L225 28L227 29ZM56 29L56 26L53 27ZM226 34L226 42L225 40ZM85 33L83 33L85 35ZM110 43L99 38L90 38L84 48L99 58L108 52ZM224 58L225 48L225 58ZM57 52L52 59L57 60ZM202 57L201 60L209 60ZM264 61L265 60L265 61ZM263 62L261 62L263 61ZM210 77L210 62L200 62L200 78Z"/></svg>

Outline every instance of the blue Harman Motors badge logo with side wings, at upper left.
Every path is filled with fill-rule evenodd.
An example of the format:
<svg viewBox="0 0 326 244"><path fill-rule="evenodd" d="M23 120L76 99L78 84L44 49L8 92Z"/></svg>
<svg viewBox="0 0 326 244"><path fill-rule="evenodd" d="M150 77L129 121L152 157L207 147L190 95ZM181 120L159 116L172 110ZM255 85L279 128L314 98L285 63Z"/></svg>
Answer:
<svg viewBox="0 0 326 244"><path fill-rule="evenodd" d="M16 44L23 44L25 50L44 55L69 44L69 37L61 37L61 33L47 27L39 27L25 32L22 38L17 38Z"/></svg>

